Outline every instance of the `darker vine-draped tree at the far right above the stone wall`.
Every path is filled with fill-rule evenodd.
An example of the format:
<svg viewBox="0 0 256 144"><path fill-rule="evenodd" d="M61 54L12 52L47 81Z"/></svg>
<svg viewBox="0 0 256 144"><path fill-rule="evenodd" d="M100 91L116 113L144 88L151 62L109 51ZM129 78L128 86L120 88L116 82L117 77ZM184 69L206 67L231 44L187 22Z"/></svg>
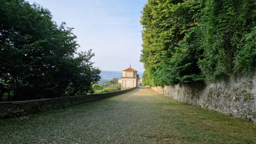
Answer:
<svg viewBox="0 0 256 144"><path fill-rule="evenodd" d="M208 0L204 3L199 25L205 29L202 34L205 41L201 45L204 53L198 64L206 81L225 79L233 71L243 73L243 68L247 67L236 60L253 40L247 37L249 33L255 33L252 30L256 26L255 4L250 0ZM250 57L246 59L252 60ZM249 67L247 69L252 70L254 66L249 64Z"/></svg>

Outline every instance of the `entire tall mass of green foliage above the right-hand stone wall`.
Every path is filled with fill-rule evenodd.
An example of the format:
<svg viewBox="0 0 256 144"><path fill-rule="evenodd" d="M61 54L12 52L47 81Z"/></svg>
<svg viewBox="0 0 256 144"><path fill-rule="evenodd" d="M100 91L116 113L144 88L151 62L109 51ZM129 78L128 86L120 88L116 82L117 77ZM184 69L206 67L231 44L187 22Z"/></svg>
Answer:
<svg viewBox="0 0 256 144"><path fill-rule="evenodd" d="M145 85L253 74L256 2L148 0L141 17Z"/></svg>

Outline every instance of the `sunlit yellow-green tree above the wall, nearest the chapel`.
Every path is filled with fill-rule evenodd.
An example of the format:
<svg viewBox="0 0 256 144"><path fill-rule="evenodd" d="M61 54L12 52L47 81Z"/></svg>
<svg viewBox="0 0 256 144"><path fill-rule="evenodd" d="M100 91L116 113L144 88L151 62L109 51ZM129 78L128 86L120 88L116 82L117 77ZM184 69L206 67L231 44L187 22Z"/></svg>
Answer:
<svg viewBox="0 0 256 144"><path fill-rule="evenodd" d="M149 0L145 5L141 17L144 29L140 60L146 70L145 85L177 84L200 78L197 57L193 57L197 52L179 44L187 30L198 25L195 15L199 12L198 1ZM193 62L188 59L189 53L195 59Z"/></svg>

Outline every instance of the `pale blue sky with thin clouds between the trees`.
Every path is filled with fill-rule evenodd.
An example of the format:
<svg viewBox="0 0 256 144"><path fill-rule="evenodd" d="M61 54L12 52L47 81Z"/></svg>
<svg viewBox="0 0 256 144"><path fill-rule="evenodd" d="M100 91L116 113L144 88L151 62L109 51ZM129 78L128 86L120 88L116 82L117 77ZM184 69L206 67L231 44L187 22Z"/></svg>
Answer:
<svg viewBox="0 0 256 144"><path fill-rule="evenodd" d="M81 46L92 49L94 66L121 71L129 67L143 72L140 16L146 0L28 0L48 8L57 24L74 27Z"/></svg>

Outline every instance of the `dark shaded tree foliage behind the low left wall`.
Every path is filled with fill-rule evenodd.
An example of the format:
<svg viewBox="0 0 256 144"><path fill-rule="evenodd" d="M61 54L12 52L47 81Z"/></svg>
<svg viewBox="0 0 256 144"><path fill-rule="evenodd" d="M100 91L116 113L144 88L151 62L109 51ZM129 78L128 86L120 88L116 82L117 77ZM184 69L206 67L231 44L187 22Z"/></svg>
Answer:
<svg viewBox="0 0 256 144"><path fill-rule="evenodd" d="M73 28L24 0L0 1L0 101L87 94L100 80Z"/></svg>

